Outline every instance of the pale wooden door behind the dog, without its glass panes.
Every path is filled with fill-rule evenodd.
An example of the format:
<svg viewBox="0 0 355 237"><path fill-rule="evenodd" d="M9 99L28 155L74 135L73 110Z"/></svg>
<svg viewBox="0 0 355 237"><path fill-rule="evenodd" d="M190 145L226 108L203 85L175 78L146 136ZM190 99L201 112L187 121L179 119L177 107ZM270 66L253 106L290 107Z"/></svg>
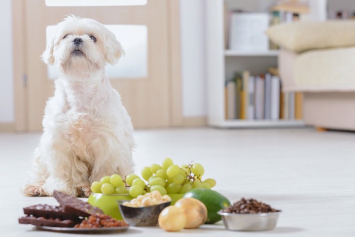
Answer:
<svg viewBox="0 0 355 237"><path fill-rule="evenodd" d="M110 81L121 94L123 105L135 128L171 125L173 119L170 105L173 93L169 72L171 61L168 14L169 11L179 11L178 9L169 7L166 0L148 0L146 5L141 6L109 7L48 7L44 0L24 1L24 4L27 130L42 129L45 103L54 92L54 83L47 75L47 65L40 59L46 47L46 27L55 25L70 14L93 18L102 24L147 26L147 76L110 78ZM176 105L175 99L173 103Z"/></svg>

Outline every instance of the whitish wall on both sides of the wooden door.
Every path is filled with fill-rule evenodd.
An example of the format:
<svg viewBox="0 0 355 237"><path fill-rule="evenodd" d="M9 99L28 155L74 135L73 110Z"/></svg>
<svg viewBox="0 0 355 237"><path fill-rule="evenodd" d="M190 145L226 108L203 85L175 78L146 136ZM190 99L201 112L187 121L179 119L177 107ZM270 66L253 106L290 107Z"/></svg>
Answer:
<svg viewBox="0 0 355 237"><path fill-rule="evenodd" d="M205 116L203 0L182 0L180 12L183 116ZM11 0L0 1L0 123L14 121L11 19Z"/></svg>

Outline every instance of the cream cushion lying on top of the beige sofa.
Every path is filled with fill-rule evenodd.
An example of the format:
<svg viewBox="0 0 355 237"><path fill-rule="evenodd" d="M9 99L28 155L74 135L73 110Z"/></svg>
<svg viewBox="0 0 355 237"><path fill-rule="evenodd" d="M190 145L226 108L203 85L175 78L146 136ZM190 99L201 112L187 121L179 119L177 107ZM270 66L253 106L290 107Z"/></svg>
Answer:
<svg viewBox="0 0 355 237"><path fill-rule="evenodd" d="M266 35L294 52L355 46L355 20L281 23L269 27Z"/></svg>

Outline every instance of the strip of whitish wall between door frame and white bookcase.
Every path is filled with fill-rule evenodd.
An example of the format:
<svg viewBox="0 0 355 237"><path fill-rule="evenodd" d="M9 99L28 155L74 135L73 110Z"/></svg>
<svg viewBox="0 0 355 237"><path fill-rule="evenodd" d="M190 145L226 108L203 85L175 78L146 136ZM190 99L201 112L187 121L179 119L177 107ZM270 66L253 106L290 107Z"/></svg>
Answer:
<svg viewBox="0 0 355 237"><path fill-rule="evenodd" d="M207 114L203 1L181 0L180 2L184 117L200 117Z"/></svg>

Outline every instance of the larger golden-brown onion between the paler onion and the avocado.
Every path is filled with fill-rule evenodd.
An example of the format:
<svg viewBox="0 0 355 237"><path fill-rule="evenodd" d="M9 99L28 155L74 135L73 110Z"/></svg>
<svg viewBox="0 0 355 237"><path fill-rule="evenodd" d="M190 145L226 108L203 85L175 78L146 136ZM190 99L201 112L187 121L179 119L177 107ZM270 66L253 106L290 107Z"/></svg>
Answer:
<svg viewBox="0 0 355 237"><path fill-rule="evenodd" d="M198 228L207 220L207 208L196 198L181 198L175 202L174 206L184 210L187 218L186 229Z"/></svg>

